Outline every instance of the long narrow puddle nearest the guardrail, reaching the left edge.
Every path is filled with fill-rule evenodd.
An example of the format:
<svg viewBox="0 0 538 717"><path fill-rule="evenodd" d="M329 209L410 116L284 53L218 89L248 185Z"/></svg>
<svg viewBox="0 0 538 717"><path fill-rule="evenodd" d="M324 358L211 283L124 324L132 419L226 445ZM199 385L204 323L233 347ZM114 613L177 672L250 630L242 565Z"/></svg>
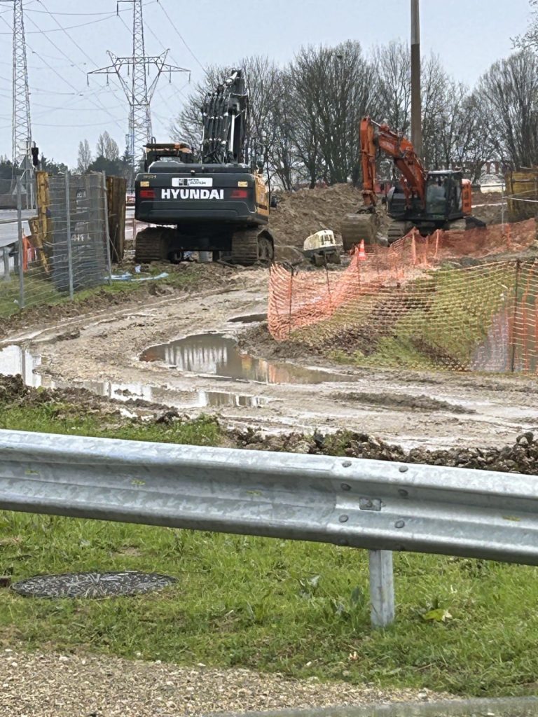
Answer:
<svg viewBox="0 0 538 717"><path fill-rule="evenodd" d="M115 384L113 381L54 381L49 376L36 372L41 366L41 356L21 346L6 346L0 350L0 374L20 374L26 386L47 389L87 389L96 396L116 401L143 400L148 403L166 404L178 408L259 408L266 406L270 399L261 396L247 396L227 391L174 391L161 386L147 384Z"/></svg>

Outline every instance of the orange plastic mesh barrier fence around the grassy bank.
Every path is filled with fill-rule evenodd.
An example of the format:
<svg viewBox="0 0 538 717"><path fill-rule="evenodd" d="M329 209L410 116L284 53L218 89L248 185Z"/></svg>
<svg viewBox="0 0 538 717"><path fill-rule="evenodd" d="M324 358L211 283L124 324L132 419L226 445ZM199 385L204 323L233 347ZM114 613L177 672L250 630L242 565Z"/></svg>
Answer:
<svg viewBox="0 0 538 717"><path fill-rule="evenodd" d="M360 365L538 369L534 219L367 247L344 270L270 275L269 331ZM519 257L518 257L519 254Z"/></svg>

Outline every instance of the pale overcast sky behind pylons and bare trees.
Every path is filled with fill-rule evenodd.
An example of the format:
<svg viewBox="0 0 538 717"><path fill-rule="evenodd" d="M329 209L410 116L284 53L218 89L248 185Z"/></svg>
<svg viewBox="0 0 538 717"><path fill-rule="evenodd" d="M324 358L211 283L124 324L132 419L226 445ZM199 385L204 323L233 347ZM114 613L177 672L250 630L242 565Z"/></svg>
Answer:
<svg viewBox="0 0 538 717"><path fill-rule="evenodd" d="M528 0L422 0L421 6L423 52L439 54L453 77L471 85L511 52L511 37L524 32L529 17ZM108 49L131 54L131 4L120 8L117 17L115 0L25 2L33 136L48 158L75 165L80 139L95 148L103 130L125 147L128 108L117 81L86 82L86 72L110 64ZM146 0L143 12L146 53L171 49L171 62L192 70L192 82L202 77L202 65L250 54L283 64L301 44L354 39L367 49L410 34L410 0ZM0 2L0 154L8 156L11 14ZM158 141L169 138L171 118L189 92L187 75L172 80L161 77L152 105Z"/></svg>

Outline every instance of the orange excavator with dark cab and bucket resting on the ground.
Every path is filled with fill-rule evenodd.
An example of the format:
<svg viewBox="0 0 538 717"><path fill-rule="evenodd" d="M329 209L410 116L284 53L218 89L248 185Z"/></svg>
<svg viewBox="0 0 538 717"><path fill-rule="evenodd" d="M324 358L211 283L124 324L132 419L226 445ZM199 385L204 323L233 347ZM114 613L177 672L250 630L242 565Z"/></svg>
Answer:
<svg viewBox="0 0 538 717"><path fill-rule="evenodd" d="M387 231L389 244L405 237L413 227L427 236L435 229L463 230L486 226L471 214L471 182L463 179L461 171L426 171L409 140L369 117L362 119L360 141L364 206L357 214L348 214L341 224L345 251L350 251L362 239L365 244L374 244L377 240L379 200L375 183L378 150L392 157L401 175L398 184L387 194L387 215L391 220Z"/></svg>

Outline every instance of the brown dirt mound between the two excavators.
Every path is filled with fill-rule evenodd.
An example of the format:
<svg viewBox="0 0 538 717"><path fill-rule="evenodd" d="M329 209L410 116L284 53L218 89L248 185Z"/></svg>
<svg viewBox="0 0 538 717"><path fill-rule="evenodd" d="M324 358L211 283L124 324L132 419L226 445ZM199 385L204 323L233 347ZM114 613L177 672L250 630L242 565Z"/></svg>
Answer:
<svg viewBox="0 0 538 717"><path fill-rule="evenodd" d="M284 192L271 212L271 231L278 247L302 249L306 237L321 229L332 229L341 242L341 220L361 204L361 192L351 184Z"/></svg>

